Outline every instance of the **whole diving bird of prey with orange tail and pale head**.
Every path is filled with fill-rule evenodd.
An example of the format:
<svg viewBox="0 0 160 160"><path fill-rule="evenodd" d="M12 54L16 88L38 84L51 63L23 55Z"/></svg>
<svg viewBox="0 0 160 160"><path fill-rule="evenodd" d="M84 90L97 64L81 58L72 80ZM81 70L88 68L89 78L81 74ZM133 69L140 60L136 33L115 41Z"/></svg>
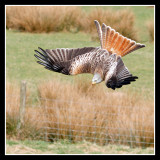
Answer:
<svg viewBox="0 0 160 160"><path fill-rule="evenodd" d="M37 63L48 70L65 75L91 73L93 74L92 84L105 81L106 86L113 90L136 81L138 77L129 72L122 57L145 45L122 36L104 23L101 27L97 20L94 22L100 47L46 50L38 47L39 51L35 50L37 54L34 55L38 59Z"/></svg>

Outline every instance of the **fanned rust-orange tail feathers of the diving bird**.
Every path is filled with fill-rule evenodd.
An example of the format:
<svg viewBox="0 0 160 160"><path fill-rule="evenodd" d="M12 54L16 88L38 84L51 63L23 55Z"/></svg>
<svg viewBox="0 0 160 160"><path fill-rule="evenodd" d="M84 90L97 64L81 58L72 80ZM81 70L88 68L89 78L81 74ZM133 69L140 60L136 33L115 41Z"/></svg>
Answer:
<svg viewBox="0 0 160 160"><path fill-rule="evenodd" d="M104 23L102 24L101 29L99 22L97 20L94 22L96 24L101 48L107 49L110 53L116 53L123 57L130 52L145 47L144 44L136 43L135 41L122 36Z"/></svg>

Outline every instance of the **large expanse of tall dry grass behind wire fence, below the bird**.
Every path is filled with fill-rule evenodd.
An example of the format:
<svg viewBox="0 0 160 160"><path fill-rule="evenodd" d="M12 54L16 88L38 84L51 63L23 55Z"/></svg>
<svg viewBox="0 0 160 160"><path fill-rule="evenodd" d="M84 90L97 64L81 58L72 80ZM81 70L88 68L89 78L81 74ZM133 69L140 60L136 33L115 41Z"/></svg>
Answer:
<svg viewBox="0 0 160 160"><path fill-rule="evenodd" d="M154 104L137 94L112 92L89 82L39 85L47 138L87 139L100 144L150 146L154 142Z"/></svg>

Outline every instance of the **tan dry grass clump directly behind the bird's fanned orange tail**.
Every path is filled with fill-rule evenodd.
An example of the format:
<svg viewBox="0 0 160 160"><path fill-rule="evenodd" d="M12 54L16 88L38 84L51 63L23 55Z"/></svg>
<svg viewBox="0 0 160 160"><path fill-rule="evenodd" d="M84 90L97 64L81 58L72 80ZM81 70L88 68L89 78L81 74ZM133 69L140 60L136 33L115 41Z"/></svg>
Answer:
<svg viewBox="0 0 160 160"><path fill-rule="evenodd" d="M93 34L93 38L97 37L94 20L98 20L100 24L105 23L107 26L114 28L117 32L131 38L138 40L137 30L135 29L135 16L130 10L104 10L101 8L93 9L86 16L83 21L83 27L86 31Z"/></svg>

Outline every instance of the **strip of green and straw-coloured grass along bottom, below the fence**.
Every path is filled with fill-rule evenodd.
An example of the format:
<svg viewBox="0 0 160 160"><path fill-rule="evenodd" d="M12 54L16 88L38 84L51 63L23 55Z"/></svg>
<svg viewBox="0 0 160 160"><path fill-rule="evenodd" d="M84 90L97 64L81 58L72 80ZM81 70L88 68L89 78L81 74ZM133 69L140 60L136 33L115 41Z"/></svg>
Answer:
<svg viewBox="0 0 160 160"><path fill-rule="evenodd" d="M6 154L154 154L154 148L130 148L123 145L99 146L86 141L71 143L59 140L44 141L6 140Z"/></svg>

